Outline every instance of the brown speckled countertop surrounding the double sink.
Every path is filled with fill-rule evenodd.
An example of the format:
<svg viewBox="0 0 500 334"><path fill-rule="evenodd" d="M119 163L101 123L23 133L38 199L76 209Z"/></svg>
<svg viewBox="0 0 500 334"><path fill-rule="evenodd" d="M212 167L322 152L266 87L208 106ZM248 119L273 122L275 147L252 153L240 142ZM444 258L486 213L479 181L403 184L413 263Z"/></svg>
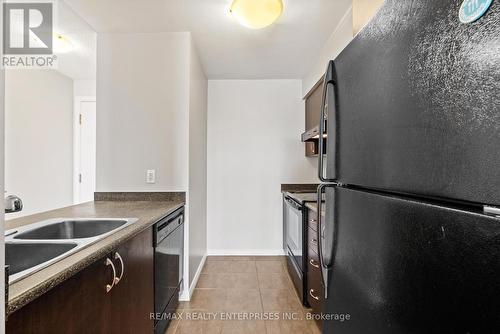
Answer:
<svg viewBox="0 0 500 334"><path fill-rule="evenodd" d="M138 221L130 226L38 272L9 284L7 315L112 252L124 241L151 227L159 219L183 205L184 201L181 199L170 201L97 201L6 221L5 229L8 230L51 218L138 218Z"/></svg>

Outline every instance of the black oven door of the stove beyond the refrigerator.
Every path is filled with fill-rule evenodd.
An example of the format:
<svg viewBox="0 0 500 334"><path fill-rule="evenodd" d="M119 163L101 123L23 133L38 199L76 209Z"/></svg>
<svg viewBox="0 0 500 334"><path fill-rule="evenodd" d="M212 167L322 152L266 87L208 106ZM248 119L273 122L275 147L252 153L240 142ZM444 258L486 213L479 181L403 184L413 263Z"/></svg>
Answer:
<svg viewBox="0 0 500 334"><path fill-rule="evenodd" d="M299 270L303 272L302 206L289 197L285 197L284 205L287 246Z"/></svg>

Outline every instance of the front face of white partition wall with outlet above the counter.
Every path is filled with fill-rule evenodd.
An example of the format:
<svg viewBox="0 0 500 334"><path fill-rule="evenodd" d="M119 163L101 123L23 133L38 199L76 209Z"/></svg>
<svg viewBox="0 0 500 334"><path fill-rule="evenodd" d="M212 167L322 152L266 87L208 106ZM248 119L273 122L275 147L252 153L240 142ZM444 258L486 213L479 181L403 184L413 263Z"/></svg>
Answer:
<svg viewBox="0 0 500 334"><path fill-rule="evenodd" d="M189 33L99 34L97 191L187 190L189 45Z"/></svg>

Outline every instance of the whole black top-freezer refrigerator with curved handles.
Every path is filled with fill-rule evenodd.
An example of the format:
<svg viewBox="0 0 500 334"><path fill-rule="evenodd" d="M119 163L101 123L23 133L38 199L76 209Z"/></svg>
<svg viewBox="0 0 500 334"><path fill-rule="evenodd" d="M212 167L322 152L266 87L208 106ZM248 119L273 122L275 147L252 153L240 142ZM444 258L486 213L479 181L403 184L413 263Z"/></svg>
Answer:
<svg viewBox="0 0 500 334"><path fill-rule="evenodd" d="M323 333L500 333L500 1L461 4L386 0L328 66Z"/></svg>

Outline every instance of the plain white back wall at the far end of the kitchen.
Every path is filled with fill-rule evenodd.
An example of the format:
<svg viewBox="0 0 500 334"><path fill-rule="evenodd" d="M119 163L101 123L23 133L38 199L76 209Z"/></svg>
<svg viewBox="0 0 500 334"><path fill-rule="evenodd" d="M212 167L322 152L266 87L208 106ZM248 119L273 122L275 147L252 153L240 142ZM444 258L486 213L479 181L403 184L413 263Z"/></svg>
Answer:
<svg viewBox="0 0 500 334"><path fill-rule="evenodd" d="M282 254L281 183L315 183L300 80L209 80L208 252Z"/></svg>

